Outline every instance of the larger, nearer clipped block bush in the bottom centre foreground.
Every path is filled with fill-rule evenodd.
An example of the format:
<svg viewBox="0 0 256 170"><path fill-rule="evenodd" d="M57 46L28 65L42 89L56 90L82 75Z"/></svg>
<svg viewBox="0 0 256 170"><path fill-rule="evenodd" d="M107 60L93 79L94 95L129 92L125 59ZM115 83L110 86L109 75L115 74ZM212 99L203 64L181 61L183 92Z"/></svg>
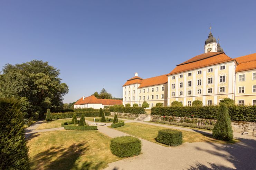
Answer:
<svg viewBox="0 0 256 170"><path fill-rule="evenodd" d="M140 155L141 141L132 136L122 136L111 139L110 150L118 157L132 157Z"/></svg>

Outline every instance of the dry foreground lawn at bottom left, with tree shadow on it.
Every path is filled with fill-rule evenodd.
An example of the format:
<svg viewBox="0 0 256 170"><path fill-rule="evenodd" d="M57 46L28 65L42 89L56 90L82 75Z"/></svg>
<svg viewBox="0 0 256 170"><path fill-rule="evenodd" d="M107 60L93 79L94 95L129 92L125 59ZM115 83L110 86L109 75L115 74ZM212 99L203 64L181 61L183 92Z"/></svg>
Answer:
<svg viewBox="0 0 256 170"><path fill-rule="evenodd" d="M110 151L110 137L98 131L58 130L28 138L33 170L97 170L120 160Z"/></svg>

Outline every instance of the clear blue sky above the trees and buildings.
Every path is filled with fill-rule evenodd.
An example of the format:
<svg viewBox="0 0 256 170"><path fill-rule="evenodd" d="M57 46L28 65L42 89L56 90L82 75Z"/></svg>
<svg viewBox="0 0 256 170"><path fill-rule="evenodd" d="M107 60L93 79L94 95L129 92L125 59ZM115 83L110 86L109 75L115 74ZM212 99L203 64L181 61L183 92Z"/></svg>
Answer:
<svg viewBox="0 0 256 170"><path fill-rule="evenodd" d="M256 52L256 1L0 0L0 66L33 59L60 69L74 102L104 87L167 74L204 53L209 34L230 57Z"/></svg>

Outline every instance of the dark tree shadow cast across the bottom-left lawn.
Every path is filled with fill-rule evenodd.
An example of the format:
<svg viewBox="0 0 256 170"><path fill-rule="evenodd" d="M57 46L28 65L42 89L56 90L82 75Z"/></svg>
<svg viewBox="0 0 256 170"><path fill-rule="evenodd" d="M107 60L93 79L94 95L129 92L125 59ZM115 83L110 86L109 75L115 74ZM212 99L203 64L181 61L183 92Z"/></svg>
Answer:
<svg viewBox="0 0 256 170"><path fill-rule="evenodd" d="M85 161L82 163L82 166L79 166L79 157L86 154L88 151L88 146L84 147L86 142L79 144L73 144L66 148L65 146L51 147L43 152L38 153L33 157L32 166L35 166L35 169L45 169L45 170L96 170L102 166L103 162L93 164L93 162ZM53 159L55 159L53 161Z"/></svg>

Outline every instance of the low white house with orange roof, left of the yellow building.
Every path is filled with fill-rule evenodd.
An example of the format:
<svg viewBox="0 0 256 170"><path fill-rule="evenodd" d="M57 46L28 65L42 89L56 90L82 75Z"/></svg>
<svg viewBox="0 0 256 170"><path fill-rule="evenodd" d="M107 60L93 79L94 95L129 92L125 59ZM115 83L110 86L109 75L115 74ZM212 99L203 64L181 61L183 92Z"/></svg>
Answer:
<svg viewBox="0 0 256 170"><path fill-rule="evenodd" d="M74 109L77 108L104 108L104 106L113 106L113 105L122 105L122 100L113 100L113 99L99 99L94 95L88 97L80 98L75 104Z"/></svg>

